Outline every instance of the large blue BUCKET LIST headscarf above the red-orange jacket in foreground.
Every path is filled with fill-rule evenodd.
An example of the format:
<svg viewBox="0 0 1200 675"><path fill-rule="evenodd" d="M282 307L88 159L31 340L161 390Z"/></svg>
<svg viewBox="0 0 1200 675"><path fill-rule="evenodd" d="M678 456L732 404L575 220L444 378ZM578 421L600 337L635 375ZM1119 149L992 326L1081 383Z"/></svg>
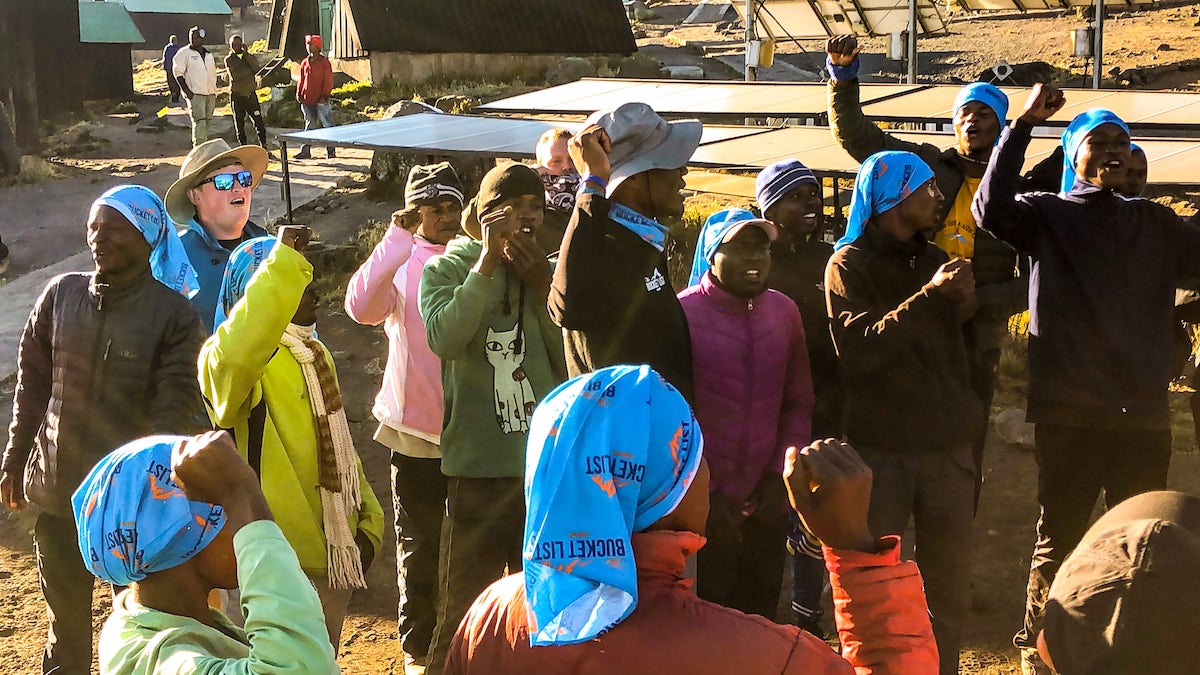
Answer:
<svg viewBox="0 0 1200 675"><path fill-rule="evenodd" d="M702 446L688 402L648 365L581 375L538 406L526 455L530 645L587 641L634 611L630 537L679 506Z"/></svg>

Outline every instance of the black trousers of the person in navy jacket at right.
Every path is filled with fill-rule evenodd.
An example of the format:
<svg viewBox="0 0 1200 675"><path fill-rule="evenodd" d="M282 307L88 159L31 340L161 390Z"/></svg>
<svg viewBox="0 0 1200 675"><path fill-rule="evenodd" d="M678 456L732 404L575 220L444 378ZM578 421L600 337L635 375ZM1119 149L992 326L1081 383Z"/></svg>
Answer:
<svg viewBox="0 0 1200 675"><path fill-rule="evenodd" d="M1087 532L1096 497L1104 506L1166 486L1171 462L1169 430L1082 429L1038 424L1037 543L1030 561L1025 623L1013 638L1021 649L1036 649L1046 595L1062 561Z"/></svg>

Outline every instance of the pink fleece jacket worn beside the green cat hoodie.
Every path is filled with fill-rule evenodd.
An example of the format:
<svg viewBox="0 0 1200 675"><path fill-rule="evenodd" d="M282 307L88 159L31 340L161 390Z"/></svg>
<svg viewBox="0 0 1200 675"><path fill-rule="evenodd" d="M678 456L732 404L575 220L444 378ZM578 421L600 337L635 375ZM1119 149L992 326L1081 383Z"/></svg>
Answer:
<svg viewBox="0 0 1200 675"><path fill-rule="evenodd" d="M388 334L388 366L372 413L431 443L442 435L442 362L430 350L416 304L421 269L443 252L445 245L389 227L346 288L346 313L364 325L383 323Z"/></svg>

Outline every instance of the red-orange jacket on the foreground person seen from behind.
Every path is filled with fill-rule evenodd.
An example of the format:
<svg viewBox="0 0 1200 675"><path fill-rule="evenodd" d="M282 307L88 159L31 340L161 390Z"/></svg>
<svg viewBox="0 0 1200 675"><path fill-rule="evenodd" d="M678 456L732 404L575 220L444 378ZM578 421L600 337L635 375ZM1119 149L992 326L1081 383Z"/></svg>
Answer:
<svg viewBox="0 0 1200 675"><path fill-rule="evenodd" d="M524 577L492 584L450 645L446 675L926 675L937 673L920 573L900 562L900 539L880 554L826 549L842 659L794 626L696 597L684 560L704 545L691 532L634 534L637 608L607 633L577 645L529 646Z"/></svg>

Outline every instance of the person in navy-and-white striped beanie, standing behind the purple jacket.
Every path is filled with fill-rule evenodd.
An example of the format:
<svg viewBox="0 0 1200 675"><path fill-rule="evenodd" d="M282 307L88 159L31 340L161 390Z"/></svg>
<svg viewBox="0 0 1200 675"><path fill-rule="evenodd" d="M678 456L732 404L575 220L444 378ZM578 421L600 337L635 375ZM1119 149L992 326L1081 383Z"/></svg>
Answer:
<svg viewBox="0 0 1200 675"><path fill-rule="evenodd" d="M809 350L816 396L812 437L840 438L841 382L824 298L824 269L833 256L833 245L821 238L824 228L821 183L799 160L784 160L758 173L755 195L763 217L779 232L779 238L770 245L767 286L791 298L799 307L804 323L804 342ZM792 614L797 626L822 637L826 569L821 542L804 530L796 514L788 518Z"/></svg>

